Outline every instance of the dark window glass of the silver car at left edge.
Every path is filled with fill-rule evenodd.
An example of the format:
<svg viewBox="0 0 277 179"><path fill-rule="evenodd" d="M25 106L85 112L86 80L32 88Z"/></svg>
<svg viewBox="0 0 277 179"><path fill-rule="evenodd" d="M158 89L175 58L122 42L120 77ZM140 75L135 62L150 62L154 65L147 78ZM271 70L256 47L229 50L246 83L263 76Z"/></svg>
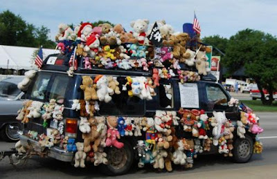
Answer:
<svg viewBox="0 0 277 179"><path fill-rule="evenodd" d="M15 98L20 92L17 84L0 82L0 97Z"/></svg>

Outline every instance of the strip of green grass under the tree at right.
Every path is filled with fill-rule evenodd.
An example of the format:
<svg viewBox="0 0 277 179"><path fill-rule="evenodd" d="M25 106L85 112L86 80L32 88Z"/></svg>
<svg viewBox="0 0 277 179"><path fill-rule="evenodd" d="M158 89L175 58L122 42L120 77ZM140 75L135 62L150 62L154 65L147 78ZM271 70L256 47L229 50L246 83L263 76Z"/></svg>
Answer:
<svg viewBox="0 0 277 179"><path fill-rule="evenodd" d="M277 101L274 101L271 106L262 104L261 100L240 100L240 102L249 106L253 111L277 112Z"/></svg>

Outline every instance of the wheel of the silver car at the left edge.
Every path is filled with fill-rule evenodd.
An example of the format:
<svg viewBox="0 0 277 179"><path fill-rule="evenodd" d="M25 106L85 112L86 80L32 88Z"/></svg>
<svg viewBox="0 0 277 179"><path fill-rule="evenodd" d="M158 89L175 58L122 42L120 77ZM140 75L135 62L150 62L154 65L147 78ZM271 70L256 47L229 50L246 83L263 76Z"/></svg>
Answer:
<svg viewBox="0 0 277 179"><path fill-rule="evenodd" d="M0 131L1 138L6 142L17 142L19 140L19 134L17 132L21 130L22 125L18 122L5 124Z"/></svg>

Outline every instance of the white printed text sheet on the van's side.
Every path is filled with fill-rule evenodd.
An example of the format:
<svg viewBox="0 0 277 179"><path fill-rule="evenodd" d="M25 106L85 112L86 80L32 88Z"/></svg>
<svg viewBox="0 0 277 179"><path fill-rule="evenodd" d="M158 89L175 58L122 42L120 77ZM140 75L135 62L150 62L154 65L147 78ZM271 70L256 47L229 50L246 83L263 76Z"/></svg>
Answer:
<svg viewBox="0 0 277 179"><path fill-rule="evenodd" d="M179 83L181 107L199 109L199 95L197 84Z"/></svg>

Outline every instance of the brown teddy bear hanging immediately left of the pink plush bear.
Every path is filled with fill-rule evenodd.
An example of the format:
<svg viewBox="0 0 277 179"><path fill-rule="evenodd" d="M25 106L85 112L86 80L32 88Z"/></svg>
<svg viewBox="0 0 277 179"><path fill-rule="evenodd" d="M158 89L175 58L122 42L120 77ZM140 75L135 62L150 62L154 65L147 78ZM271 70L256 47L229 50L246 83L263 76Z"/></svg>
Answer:
<svg viewBox="0 0 277 179"><path fill-rule="evenodd" d="M89 123L91 126L91 131L89 133L82 133L82 139L84 140L84 152L91 151L91 142L94 142L92 145L93 151L97 152L101 140L99 138L100 133L97 131L96 119L94 117L90 117Z"/></svg>

